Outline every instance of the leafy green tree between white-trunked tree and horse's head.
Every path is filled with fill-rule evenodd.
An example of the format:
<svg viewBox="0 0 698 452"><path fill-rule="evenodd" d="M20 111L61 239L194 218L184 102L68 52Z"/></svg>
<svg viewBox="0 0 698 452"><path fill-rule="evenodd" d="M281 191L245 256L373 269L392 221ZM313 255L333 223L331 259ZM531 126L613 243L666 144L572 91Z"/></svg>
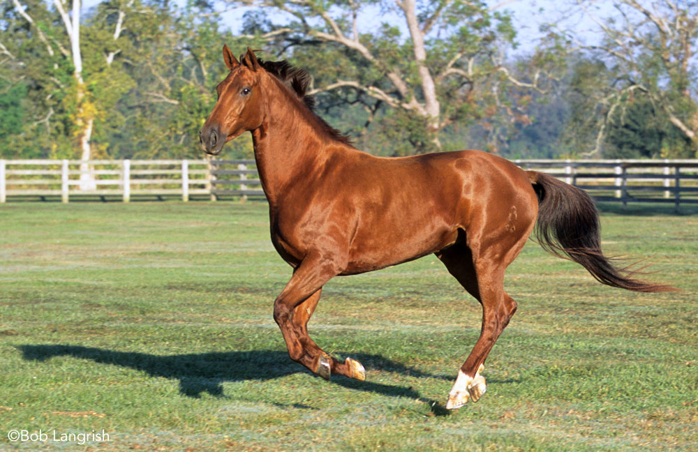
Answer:
<svg viewBox="0 0 698 452"><path fill-rule="evenodd" d="M151 6L124 32L123 72L133 80L105 130L114 153L138 158L200 158L198 132L228 72L221 43L259 47L260 40L221 29L206 5ZM251 140L236 140L229 156L251 156Z"/></svg>

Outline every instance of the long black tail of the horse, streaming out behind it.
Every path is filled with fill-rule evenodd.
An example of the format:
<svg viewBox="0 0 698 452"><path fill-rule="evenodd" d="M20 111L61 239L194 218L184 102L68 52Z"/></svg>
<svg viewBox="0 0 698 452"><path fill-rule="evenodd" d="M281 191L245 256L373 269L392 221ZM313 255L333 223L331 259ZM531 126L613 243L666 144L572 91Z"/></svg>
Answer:
<svg viewBox="0 0 698 452"><path fill-rule="evenodd" d="M636 292L668 292L674 287L632 278L637 271L617 269L601 251L601 225L593 199L584 190L548 174L527 171L538 195L535 238L548 253L584 266L600 283Z"/></svg>

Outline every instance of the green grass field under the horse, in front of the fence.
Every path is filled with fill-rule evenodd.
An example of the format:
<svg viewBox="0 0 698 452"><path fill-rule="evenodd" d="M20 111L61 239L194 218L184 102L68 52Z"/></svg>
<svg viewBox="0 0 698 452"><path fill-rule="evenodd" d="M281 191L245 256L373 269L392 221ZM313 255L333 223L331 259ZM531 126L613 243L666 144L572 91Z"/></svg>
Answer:
<svg viewBox="0 0 698 452"><path fill-rule="evenodd" d="M647 209L607 209L607 253L682 292L605 287L528 243L487 394L449 413L480 306L434 257L325 286L311 336L367 373L325 382L272 319L290 267L265 204L5 204L0 450L696 451L698 216ZM108 441L54 441L93 430Z"/></svg>

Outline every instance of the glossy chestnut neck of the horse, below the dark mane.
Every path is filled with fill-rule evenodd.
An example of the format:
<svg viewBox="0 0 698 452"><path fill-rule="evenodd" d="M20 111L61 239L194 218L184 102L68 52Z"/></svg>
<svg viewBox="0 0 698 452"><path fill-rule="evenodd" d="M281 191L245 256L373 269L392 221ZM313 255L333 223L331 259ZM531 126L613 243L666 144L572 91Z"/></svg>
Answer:
<svg viewBox="0 0 698 452"><path fill-rule="evenodd" d="M273 205L279 193L313 174L337 146L328 146L325 131L295 95L273 76L265 78L265 119L251 132L262 188Z"/></svg>

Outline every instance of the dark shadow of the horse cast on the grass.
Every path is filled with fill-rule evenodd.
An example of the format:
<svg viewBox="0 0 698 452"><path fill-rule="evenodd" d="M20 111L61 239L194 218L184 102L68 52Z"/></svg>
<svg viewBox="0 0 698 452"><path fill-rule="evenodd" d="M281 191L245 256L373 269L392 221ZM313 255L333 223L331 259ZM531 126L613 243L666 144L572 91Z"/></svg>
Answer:
<svg viewBox="0 0 698 452"><path fill-rule="evenodd" d="M121 366L146 372L152 377L165 377L179 380L179 392L188 397L199 398L202 393L223 397L223 383L244 380L266 381L305 372L303 366L291 361L286 352L279 350L252 350L247 352L210 352L200 354L177 354L161 356L140 352L117 352L80 345L18 345L22 357L28 361L47 361L56 356L72 356L89 359L96 363ZM410 368L396 361L375 354L352 354L352 358L364 364L367 371L383 370L413 377L431 377L451 380L446 375L431 375ZM409 397L424 402L411 387L393 386L376 382L359 382L336 375L333 384L359 391L370 391L385 396ZM433 404L431 404L434 406ZM438 409L438 407L435 407Z"/></svg>

